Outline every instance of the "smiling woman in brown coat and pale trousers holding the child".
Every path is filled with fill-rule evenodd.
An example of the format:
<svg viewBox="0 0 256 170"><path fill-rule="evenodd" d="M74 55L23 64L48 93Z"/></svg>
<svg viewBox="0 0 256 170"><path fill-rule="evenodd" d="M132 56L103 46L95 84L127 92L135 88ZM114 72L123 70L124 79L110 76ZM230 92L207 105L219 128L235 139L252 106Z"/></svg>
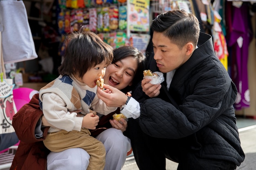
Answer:
<svg viewBox="0 0 256 170"><path fill-rule="evenodd" d="M130 46L119 47L114 50L112 64L106 68L104 84L121 90L120 94L128 93L142 79L144 68L145 57L140 51ZM42 141L51 125L42 116L36 95L13 117L13 127L20 139L20 145L10 170L86 170L90 155L85 150L73 148L62 152L49 152L45 148ZM121 119L121 123L111 120L113 114L99 115L99 126L97 130L92 130L92 136L96 136L106 148L104 170L121 170L127 152L131 149L130 139L123 135L127 127L126 120Z"/></svg>

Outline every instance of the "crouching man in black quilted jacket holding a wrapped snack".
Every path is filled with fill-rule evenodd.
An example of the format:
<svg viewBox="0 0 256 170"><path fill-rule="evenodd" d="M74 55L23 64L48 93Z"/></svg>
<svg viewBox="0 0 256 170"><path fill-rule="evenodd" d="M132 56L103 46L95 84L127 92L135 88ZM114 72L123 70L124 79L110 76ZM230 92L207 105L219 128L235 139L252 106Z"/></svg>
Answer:
<svg viewBox="0 0 256 170"><path fill-rule="evenodd" d="M143 79L132 92L140 117L129 119L128 137L139 169L166 170L166 158L179 163L177 170L236 169L245 158L233 107L237 90L211 36L183 10L158 15L151 29L148 69L164 73L165 81ZM129 108L128 102L121 112Z"/></svg>

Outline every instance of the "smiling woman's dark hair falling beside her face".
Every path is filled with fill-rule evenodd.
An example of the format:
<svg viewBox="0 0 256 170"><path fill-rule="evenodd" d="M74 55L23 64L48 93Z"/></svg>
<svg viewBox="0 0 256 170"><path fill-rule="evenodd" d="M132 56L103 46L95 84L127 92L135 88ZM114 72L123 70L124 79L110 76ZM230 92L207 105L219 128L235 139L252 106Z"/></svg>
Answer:
<svg viewBox="0 0 256 170"><path fill-rule="evenodd" d="M132 86L127 86L121 91L127 93L131 91L140 81L143 79L143 71L146 66L146 57L144 54L139 51L137 48L132 46L121 46L119 48L114 49L114 59L112 63L118 62L126 57L132 56L137 60L138 68L132 79Z"/></svg>

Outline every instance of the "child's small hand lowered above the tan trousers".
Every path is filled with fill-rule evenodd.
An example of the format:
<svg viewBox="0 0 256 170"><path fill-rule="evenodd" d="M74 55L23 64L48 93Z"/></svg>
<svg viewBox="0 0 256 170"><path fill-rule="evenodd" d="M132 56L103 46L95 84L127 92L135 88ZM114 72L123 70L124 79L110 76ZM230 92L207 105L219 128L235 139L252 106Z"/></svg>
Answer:
<svg viewBox="0 0 256 170"><path fill-rule="evenodd" d="M96 129L99 123L99 116L93 113L88 113L83 117L82 128Z"/></svg>

